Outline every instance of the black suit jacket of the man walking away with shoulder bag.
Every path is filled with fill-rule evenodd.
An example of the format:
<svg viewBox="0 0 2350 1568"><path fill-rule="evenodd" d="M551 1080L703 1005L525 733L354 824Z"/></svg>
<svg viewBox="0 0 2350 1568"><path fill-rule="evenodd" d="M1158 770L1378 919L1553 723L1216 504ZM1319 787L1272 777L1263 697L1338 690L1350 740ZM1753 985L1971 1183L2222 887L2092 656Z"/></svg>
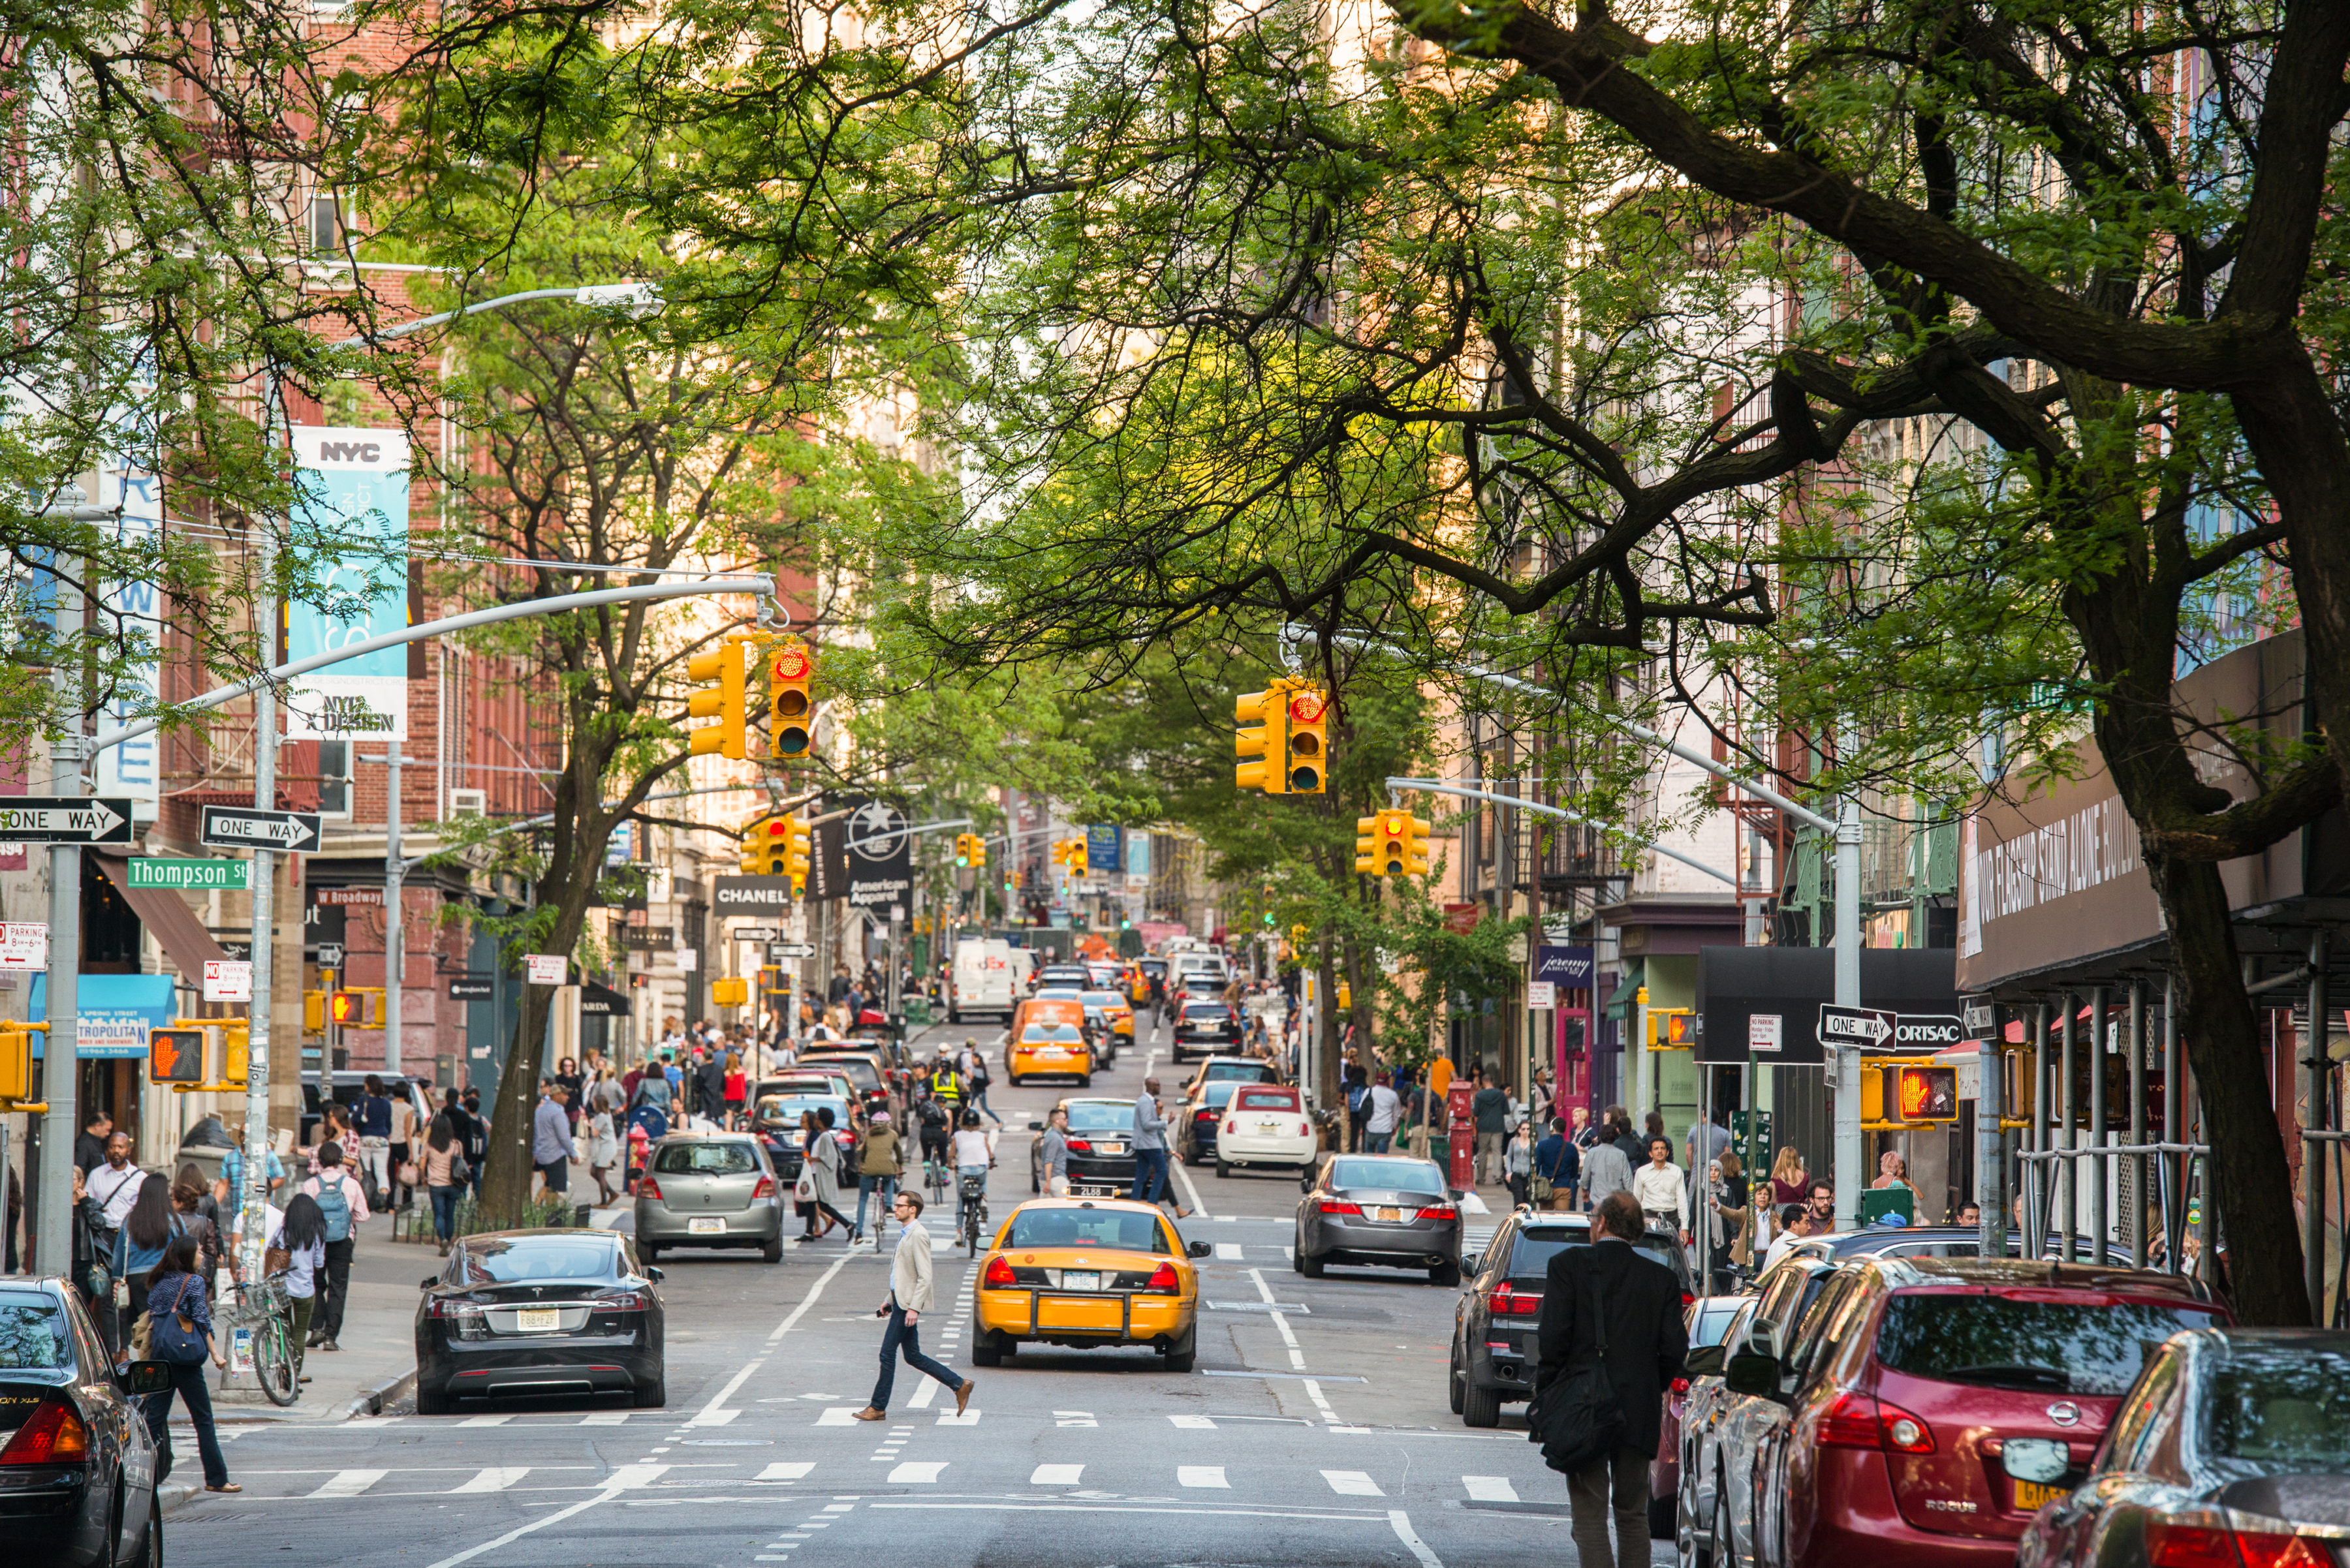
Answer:
<svg viewBox="0 0 2350 1568"><path fill-rule="evenodd" d="M1598 1354L1586 1310L1593 1284L1600 1312L1607 1314L1607 1378L1624 1399L1624 1444L1654 1453L1664 1425L1664 1390L1690 1359L1690 1331L1680 1322L1680 1282L1673 1270L1643 1258L1629 1242L1567 1246L1551 1258L1542 1317L1535 1319L1539 1383L1589 1366Z"/></svg>

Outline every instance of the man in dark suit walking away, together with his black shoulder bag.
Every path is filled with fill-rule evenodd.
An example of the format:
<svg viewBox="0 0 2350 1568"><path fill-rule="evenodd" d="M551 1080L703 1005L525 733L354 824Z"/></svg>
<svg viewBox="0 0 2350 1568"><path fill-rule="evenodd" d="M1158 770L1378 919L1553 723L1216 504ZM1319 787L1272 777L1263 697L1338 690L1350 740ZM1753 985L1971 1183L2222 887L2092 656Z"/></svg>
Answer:
<svg viewBox="0 0 2350 1568"><path fill-rule="evenodd" d="M1631 1192L1610 1192L1593 1214L1593 1244L1551 1258L1535 1322L1542 1366L1525 1413L1528 1441L1542 1444L1542 1462L1567 1476L1582 1568L1647 1568L1647 1465L1664 1390L1690 1357L1680 1282L1633 1249L1645 1223Z"/></svg>

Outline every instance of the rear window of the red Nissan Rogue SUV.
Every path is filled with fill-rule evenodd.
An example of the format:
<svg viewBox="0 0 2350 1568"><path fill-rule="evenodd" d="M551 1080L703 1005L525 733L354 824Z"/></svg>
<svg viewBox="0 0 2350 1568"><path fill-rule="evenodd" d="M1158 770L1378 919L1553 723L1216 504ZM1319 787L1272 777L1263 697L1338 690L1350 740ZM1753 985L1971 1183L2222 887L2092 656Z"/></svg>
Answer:
<svg viewBox="0 0 2350 1568"><path fill-rule="evenodd" d="M2209 1329L2214 1317L2153 1300L1896 1293L1885 1303L1878 1361L1941 1383L2120 1394L2162 1340Z"/></svg>

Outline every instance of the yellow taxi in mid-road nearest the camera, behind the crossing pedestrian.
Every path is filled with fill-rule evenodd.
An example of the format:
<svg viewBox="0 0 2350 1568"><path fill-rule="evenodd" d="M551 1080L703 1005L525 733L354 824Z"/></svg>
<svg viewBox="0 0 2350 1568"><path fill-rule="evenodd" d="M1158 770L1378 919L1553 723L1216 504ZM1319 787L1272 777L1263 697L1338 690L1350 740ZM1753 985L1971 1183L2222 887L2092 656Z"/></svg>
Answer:
<svg viewBox="0 0 2350 1568"><path fill-rule="evenodd" d="M1025 1343L1149 1345L1168 1371L1198 1359L1198 1270L1159 1204L1036 1197L1006 1216L971 1286L971 1359L1001 1366Z"/></svg>

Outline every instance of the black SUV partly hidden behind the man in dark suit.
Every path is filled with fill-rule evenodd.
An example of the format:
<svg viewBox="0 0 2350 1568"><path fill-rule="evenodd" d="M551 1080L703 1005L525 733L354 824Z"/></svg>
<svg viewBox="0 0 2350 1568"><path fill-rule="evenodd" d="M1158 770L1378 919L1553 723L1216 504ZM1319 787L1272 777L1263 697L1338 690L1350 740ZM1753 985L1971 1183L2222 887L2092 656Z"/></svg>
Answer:
<svg viewBox="0 0 2350 1568"><path fill-rule="evenodd" d="M1349 1155L1342 1155L1347 1160ZM1335 1162L1332 1162L1335 1164ZM1551 1258L1570 1246L1591 1246L1589 1214L1518 1209L1495 1225L1492 1239L1476 1258L1464 1258L1471 1275L1452 1307L1452 1359L1448 1383L1452 1413L1471 1427L1502 1425L1502 1406L1535 1392L1535 1324ZM1647 1235L1633 1242L1643 1256L1673 1270L1683 1300L1690 1293L1690 1265L1671 1237Z"/></svg>

